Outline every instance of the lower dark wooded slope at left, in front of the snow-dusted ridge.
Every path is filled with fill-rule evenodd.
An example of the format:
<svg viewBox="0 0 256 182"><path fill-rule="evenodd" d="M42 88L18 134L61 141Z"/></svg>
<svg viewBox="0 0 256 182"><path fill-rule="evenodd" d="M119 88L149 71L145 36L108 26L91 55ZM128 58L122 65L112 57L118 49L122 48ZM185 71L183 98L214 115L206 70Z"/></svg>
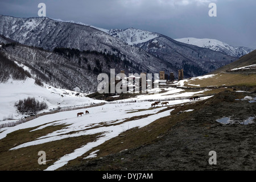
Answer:
<svg viewBox="0 0 256 182"><path fill-rule="evenodd" d="M78 89L85 93L96 92L98 74L108 73L110 68L114 68L116 73L121 70L134 73L140 69L129 61L97 51L55 48L51 52L11 43L3 44L0 53L11 61L26 65L36 77L49 85L69 90Z"/></svg>

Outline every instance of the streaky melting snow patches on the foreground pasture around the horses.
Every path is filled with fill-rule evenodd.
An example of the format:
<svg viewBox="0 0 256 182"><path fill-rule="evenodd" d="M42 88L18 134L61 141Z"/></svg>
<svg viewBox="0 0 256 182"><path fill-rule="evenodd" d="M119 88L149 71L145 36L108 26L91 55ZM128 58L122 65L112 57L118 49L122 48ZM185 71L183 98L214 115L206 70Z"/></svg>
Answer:
<svg viewBox="0 0 256 182"><path fill-rule="evenodd" d="M180 104L181 101L174 101L171 104ZM185 101L183 101L185 102ZM44 115L42 117L33 119L21 125L14 127L6 127L0 130L0 139L6 137L8 133L16 130L26 129L31 127L39 126L35 130L41 130L47 126L68 124L69 126L64 127L61 130L57 130L53 133L49 133L46 136L37 138L32 142L23 143L19 146L11 148L10 150L16 150L18 148L33 146L36 144L42 144L46 142L51 142L55 140L61 140L69 137L79 137L81 135L91 135L101 133L95 142L87 143L81 148L77 148L71 154L64 155L55 164L49 166L46 170L55 170L64 166L69 160L76 159L85 152L89 151L93 147L106 142L111 138L117 137L123 131L129 130L133 127L143 127L151 122L154 122L158 118L166 117L170 115L171 110L163 111L162 113L156 114L159 110L164 109L164 107L156 107L152 110L144 110L135 113L129 113L132 110L138 109L148 109L151 102L134 102L130 104L105 104L102 106L90 107L88 108L89 114L82 115L82 117L77 117L77 113L85 112L84 109L64 111L61 113ZM135 115L153 114L146 118L136 119L134 121L123 122L125 119L133 117ZM117 124L118 125L113 125ZM95 128L97 127L97 128ZM32 130L31 130L32 131ZM70 134L72 132L72 134ZM95 154L94 154L95 156Z"/></svg>

